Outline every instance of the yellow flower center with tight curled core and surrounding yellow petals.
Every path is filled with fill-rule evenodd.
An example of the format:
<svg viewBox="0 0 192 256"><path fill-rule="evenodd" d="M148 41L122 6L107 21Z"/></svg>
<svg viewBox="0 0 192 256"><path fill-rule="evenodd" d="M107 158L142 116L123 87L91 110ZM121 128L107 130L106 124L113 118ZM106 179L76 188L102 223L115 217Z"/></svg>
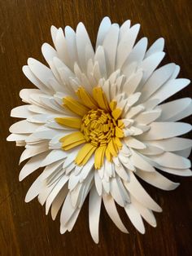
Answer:
<svg viewBox="0 0 192 256"><path fill-rule="evenodd" d="M120 120L122 110L116 108L116 101L109 104L101 87L94 87L92 95L83 88L76 91L80 99L63 98L63 106L79 117L57 117L55 121L61 126L77 129L70 135L59 139L63 150L70 150L81 144L83 147L76 155L76 165L84 166L94 154L94 167L103 166L104 157L108 161L116 157L124 137L124 122Z"/></svg>

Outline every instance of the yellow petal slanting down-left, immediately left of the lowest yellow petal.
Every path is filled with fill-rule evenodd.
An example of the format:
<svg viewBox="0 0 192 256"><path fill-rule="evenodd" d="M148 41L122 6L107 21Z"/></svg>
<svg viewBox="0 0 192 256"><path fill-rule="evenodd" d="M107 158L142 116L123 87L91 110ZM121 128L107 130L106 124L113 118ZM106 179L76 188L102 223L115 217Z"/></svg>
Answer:
<svg viewBox="0 0 192 256"><path fill-rule="evenodd" d="M89 158L93 155L96 147L91 145L91 143L85 143L85 145L78 152L75 162L78 166L84 166L85 163L89 160Z"/></svg>

